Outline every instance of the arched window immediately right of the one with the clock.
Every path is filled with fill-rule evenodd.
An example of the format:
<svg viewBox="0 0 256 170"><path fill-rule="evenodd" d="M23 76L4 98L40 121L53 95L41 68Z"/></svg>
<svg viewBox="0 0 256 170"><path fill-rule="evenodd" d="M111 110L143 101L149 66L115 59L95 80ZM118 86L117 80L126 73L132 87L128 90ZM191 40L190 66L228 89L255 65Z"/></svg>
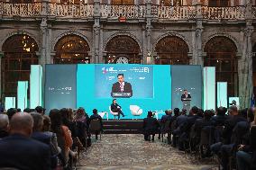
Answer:
<svg viewBox="0 0 256 170"><path fill-rule="evenodd" d="M189 51L187 43L176 37L168 36L161 39L156 45L157 58L155 64L160 65L188 65Z"/></svg>

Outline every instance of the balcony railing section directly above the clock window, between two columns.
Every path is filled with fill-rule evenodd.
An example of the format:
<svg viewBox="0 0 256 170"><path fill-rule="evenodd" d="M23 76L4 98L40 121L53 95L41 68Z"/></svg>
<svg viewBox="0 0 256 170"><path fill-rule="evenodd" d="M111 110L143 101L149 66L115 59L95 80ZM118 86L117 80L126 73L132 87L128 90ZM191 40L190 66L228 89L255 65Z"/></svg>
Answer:
<svg viewBox="0 0 256 170"><path fill-rule="evenodd" d="M101 4L101 16L104 18L125 17L127 19L144 18L145 5L108 5Z"/></svg>

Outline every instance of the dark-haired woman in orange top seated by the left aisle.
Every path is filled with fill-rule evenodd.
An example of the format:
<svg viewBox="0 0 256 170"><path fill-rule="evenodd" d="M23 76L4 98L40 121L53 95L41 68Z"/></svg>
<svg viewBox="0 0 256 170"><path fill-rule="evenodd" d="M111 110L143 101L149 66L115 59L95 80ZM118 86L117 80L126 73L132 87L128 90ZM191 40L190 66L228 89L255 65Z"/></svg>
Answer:
<svg viewBox="0 0 256 170"><path fill-rule="evenodd" d="M71 152L70 147L73 144L71 138L71 132L69 128L62 123L61 113L58 109L53 109L50 111L50 129L52 132L56 133L59 148L61 149L61 156L63 157L62 164L66 169L70 168L69 154L75 157L75 153Z"/></svg>

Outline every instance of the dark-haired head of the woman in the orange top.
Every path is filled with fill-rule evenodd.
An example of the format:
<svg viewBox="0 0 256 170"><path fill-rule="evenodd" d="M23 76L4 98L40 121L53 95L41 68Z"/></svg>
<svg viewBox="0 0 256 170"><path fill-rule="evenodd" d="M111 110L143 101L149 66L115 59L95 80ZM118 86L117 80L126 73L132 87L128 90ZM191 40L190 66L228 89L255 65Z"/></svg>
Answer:
<svg viewBox="0 0 256 170"><path fill-rule="evenodd" d="M50 130L54 133L59 133L61 131L60 127L62 125L62 117L58 109L50 110Z"/></svg>

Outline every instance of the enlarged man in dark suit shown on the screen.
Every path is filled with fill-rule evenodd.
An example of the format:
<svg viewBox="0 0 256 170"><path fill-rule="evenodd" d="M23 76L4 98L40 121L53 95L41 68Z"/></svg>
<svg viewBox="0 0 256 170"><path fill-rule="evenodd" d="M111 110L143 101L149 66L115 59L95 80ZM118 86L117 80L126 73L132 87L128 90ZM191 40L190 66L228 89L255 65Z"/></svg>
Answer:
<svg viewBox="0 0 256 170"><path fill-rule="evenodd" d="M118 81L112 85L111 96L112 97L132 97L133 96L133 89L132 85L128 82L124 82L123 74L117 75ZM114 93L130 93L130 95L125 96L116 96Z"/></svg>

